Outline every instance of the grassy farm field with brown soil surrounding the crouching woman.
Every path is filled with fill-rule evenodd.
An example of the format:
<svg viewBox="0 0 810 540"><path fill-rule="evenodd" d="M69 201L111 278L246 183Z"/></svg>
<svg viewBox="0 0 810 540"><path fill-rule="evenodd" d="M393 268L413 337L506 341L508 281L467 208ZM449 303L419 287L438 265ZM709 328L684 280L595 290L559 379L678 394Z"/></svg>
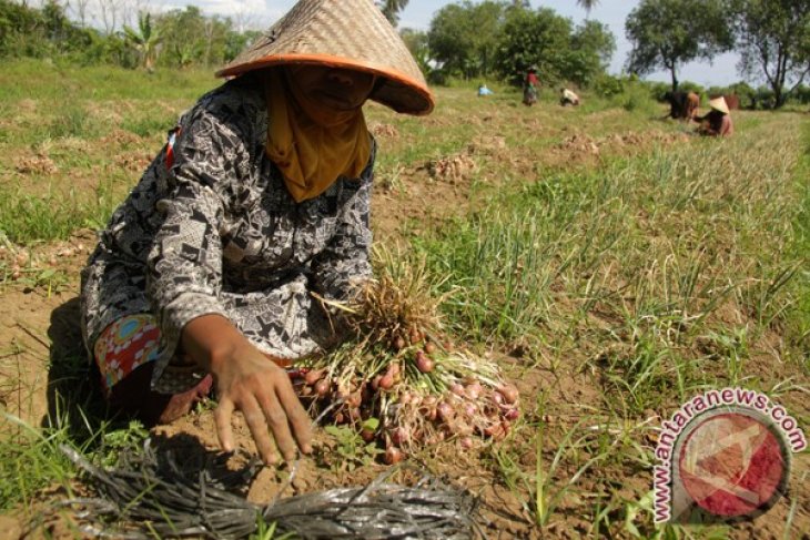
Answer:
<svg viewBox="0 0 810 540"><path fill-rule="evenodd" d="M216 448L210 406L151 434L105 415L78 329L94 231L215 84L33 61L0 72L0 538L83 536L58 506L85 493L60 444L108 465L146 435ZM808 538L807 450L787 497L729 526L656 528L652 466L661 422L707 389L762 391L810 429L810 115L735 111L732 139L703 140L640 89L580 108L544 89L525 108L493 88L436 88L422 119L366 106L375 243L424 264L448 294L447 332L520 393L503 440L448 439L409 462L479 496L488 538ZM385 470L347 436L318 441L292 492ZM246 496L271 500L285 475L264 469Z"/></svg>

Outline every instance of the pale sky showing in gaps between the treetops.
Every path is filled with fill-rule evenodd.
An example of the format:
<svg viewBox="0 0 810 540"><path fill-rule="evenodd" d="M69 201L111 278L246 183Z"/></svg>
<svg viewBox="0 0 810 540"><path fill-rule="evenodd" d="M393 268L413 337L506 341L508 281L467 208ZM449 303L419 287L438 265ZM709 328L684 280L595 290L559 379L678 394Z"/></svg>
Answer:
<svg viewBox="0 0 810 540"><path fill-rule="evenodd" d="M295 0L189 0L178 1L178 7L189 3L198 6L206 14L247 19L251 27L267 28L292 8ZM409 0L399 13L399 28L428 30L434 13L449 3L457 3L457 0ZM625 37L625 19L637 4L637 0L601 0L590 12L590 19L607 24L616 37L616 52L609 68L614 74L621 72L631 49ZM531 8L540 7L551 8L575 23L585 19L585 10L577 6L576 0L531 0ZM741 79L737 74L737 61L736 54L727 53L718 55L712 62L690 62L679 69L678 79L707 86L731 84ZM646 79L669 82L670 75L669 72L657 72Z"/></svg>

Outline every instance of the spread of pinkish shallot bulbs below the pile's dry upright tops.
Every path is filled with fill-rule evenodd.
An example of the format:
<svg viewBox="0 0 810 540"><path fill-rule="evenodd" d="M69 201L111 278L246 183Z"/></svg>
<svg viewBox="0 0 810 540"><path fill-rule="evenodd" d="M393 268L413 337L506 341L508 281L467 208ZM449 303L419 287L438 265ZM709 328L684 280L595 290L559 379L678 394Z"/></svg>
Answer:
<svg viewBox="0 0 810 540"><path fill-rule="evenodd" d="M468 449L480 438L502 439L519 416L517 389L503 383L494 363L418 330L369 350L346 347L302 369L296 388L313 411L333 406L333 422L384 446L387 463L444 440ZM369 418L378 420L374 431Z"/></svg>

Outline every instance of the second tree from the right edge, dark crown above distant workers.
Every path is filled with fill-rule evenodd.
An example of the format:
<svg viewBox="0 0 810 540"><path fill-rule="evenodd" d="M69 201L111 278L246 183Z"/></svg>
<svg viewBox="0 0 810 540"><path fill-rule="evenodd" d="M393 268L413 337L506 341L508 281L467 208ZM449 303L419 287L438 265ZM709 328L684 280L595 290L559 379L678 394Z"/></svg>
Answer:
<svg viewBox="0 0 810 540"><path fill-rule="evenodd" d="M627 17L625 31L632 44L628 70L639 75L667 70L672 90L678 89L681 64L711 59L733 43L721 0L641 0Z"/></svg>

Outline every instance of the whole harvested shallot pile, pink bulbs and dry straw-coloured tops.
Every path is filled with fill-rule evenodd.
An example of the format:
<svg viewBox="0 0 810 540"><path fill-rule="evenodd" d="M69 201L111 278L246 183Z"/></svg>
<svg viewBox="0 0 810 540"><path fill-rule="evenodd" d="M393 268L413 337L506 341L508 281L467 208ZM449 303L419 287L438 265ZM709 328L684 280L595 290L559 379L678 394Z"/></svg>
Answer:
<svg viewBox="0 0 810 540"><path fill-rule="evenodd" d="M495 363L442 334L445 297L431 294L424 264L377 255L377 281L355 303L337 306L356 338L301 369L294 380L302 400L314 412L335 405L332 421L379 441L387 463L446 439L472 448L480 438L505 437L519 416L517 389Z"/></svg>

